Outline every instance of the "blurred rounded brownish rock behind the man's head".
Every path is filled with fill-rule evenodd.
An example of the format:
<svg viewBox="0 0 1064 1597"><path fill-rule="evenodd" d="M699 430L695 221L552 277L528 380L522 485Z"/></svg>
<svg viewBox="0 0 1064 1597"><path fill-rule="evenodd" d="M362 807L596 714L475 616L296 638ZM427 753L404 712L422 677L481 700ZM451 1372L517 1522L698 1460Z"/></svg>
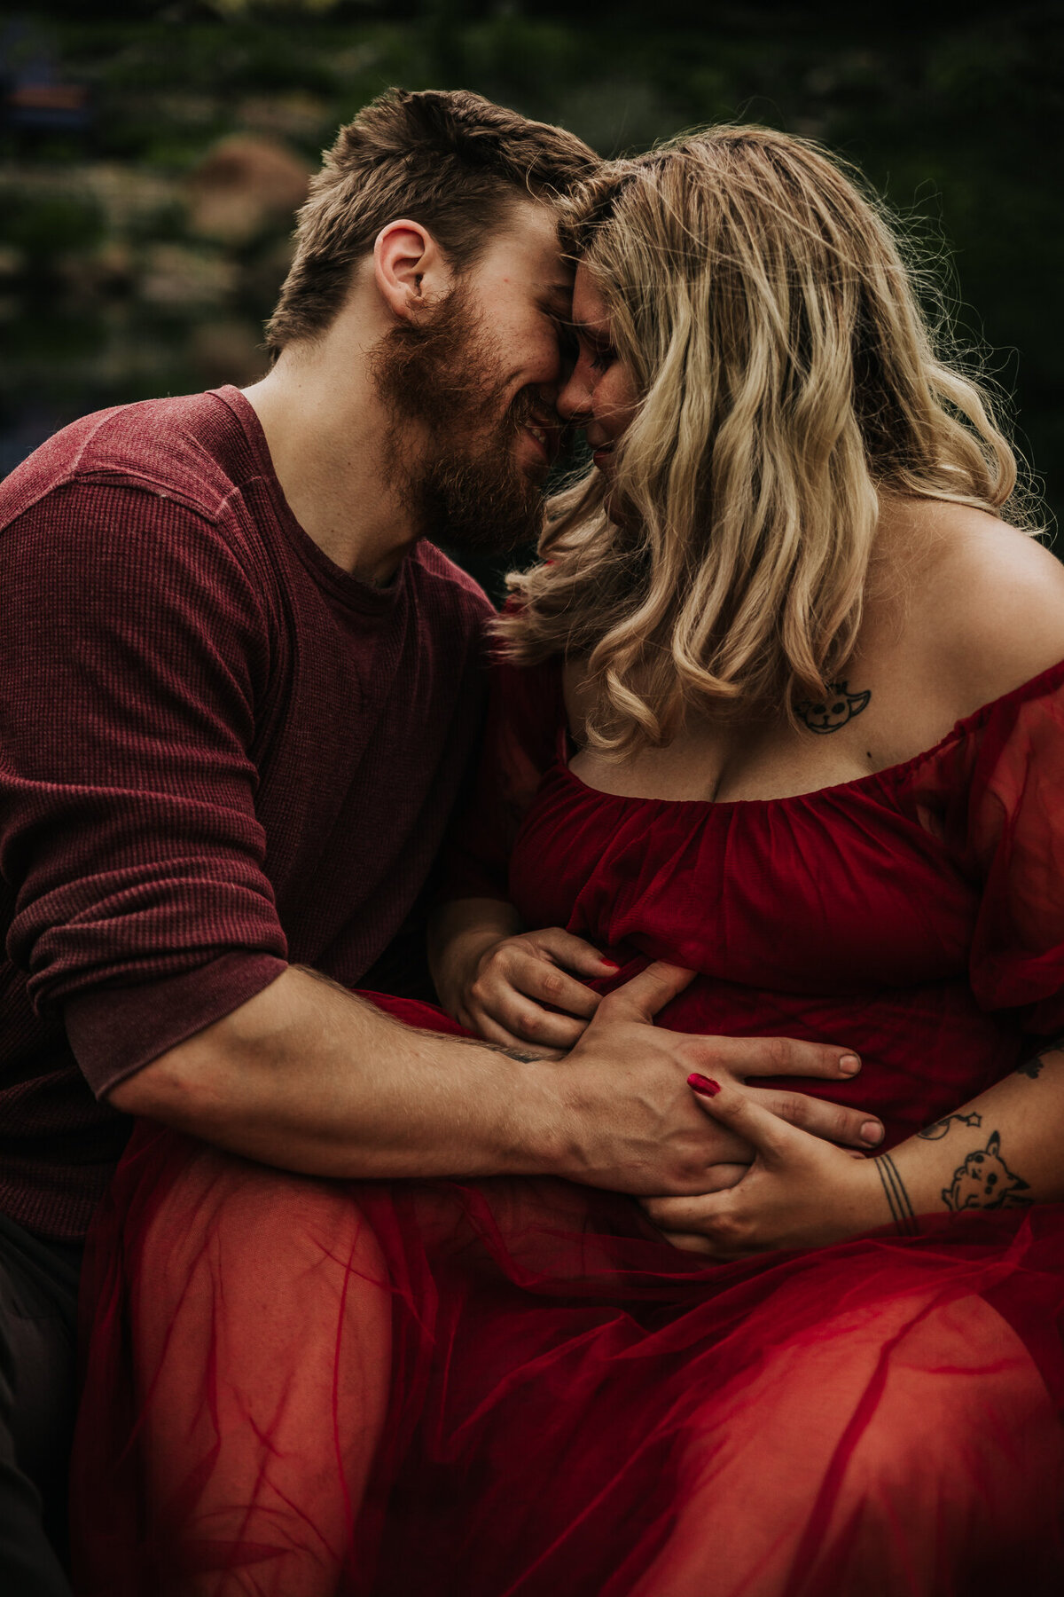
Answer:
<svg viewBox="0 0 1064 1597"><path fill-rule="evenodd" d="M187 180L190 230L230 246L287 230L308 180L306 163L284 144L236 133L215 144Z"/></svg>

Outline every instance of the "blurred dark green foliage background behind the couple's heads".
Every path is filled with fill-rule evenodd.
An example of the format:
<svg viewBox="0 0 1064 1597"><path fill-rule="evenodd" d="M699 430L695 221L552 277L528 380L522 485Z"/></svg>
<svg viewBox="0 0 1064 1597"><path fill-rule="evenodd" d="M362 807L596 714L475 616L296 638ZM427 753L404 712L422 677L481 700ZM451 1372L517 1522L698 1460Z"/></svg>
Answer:
<svg viewBox="0 0 1064 1597"><path fill-rule="evenodd" d="M0 377L59 420L231 375L262 356L286 219L222 238L196 222L207 153L246 134L306 169L381 88L466 86L603 153L753 120L855 161L938 262L962 342L1015 391L1021 439L1064 505L1064 30L1059 5L562 6L428 0L177 0L121 19L69 0L27 18L85 133L0 133ZM8 46L8 72L32 50ZM0 70L3 70L0 67ZM73 324L91 337L73 337ZM53 329L51 332L48 329ZM54 335L54 327L67 332ZM155 366L150 350L155 350ZM69 355L67 355L69 350ZM61 396L61 398L57 398ZM51 412L49 412L51 414Z"/></svg>

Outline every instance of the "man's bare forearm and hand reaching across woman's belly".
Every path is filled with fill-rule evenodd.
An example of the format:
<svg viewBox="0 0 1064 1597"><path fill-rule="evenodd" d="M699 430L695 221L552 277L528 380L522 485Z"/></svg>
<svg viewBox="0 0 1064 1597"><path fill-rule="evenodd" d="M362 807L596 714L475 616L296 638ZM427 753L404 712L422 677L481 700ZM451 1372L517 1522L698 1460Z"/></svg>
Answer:
<svg viewBox="0 0 1064 1597"><path fill-rule="evenodd" d="M234 1153L333 1177L549 1174L630 1193L694 1193L739 1140L686 1078L842 1080L842 1051L681 1036L651 1017L689 981L652 965L601 1001L563 1060L400 1025L308 971L270 987L110 1091L110 1104ZM763 1099L770 1097L763 1094ZM866 1116L799 1094L778 1110L866 1147Z"/></svg>

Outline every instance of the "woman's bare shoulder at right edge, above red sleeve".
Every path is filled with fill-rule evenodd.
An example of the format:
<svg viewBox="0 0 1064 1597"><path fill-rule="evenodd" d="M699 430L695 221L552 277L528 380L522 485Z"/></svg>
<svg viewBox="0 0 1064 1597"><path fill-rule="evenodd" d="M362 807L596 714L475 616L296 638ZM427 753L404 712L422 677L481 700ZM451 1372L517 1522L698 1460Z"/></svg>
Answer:
<svg viewBox="0 0 1064 1597"><path fill-rule="evenodd" d="M997 516L912 509L911 618L960 714L1064 660L1064 565Z"/></svg>

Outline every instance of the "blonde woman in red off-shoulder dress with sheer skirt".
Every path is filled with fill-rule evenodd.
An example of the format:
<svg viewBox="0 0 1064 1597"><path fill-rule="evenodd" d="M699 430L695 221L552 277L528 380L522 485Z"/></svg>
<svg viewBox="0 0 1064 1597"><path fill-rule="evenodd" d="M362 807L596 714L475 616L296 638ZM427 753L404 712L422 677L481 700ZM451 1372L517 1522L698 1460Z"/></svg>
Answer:
<svg viewBox="0 0 1064 1597"><path fill-rule="evenodd" d="M346 1209L294 1187L308 1313L335 1324L316 1471L266 1436L196 1524L223 1442L204 1399L195 1445L164 1437L187 1474L156 1520L131 1506L129 1540L167 1544L185 1516L182 1589L290 1597L1058 1592L1064 572L887 222L814 145L724 128L611 168L568 246L560 410L593 466L499 624L440 995L496 1043L565 1051L603 957L616 982L670 961L692 973L670 977L673 1030L855 1046L860 1076L806 1086L877 1113L884 1151L694 1075L731 1134L703 1195L640 1206L593 1171L359 1183ZM171 1219L153 1268L222 1246L214 1206ZM389 1302L362 1506L346 1279ZM188 1313L207 1375L167 1362L166 1330L132 1349L120 1469L166 1381L239 1369L225 1303ZM121 1377L97 1369L105 1418ZM305 1576L279 1586L294 1547Z"/></svg>

